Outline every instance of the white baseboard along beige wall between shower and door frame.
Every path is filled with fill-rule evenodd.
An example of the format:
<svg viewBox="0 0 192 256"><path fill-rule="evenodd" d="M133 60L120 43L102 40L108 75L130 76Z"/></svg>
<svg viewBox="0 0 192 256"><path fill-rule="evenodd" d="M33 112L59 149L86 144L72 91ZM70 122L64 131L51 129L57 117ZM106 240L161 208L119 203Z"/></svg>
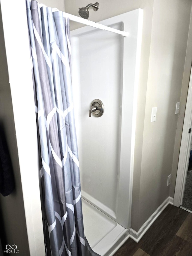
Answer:
<svg viewBox="0 0 192 256"><path fill-rule="evenodd" d="M146 231L151 227L153 222L158 218L158 216L163 212L163 210L167 207L168 204L173 205L173 197L167 197L167 199L158 207L158 209L149 217L149 219L143 224L138 232L130 228L130 237L135 241L139 242L142 236L146 233Z"/></svg>

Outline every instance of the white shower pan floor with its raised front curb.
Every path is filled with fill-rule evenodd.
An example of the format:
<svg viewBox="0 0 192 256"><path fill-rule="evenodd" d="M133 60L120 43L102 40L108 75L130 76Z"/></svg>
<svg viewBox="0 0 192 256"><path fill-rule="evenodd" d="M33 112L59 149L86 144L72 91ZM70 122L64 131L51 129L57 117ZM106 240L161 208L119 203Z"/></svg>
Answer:
<svg viewBox="0 0 192 256"><path fill-rule="evenodd" d="M82 198L84 232L89 245L101 256L113 255L119 245L129 238L129 230L122 227L95 206Z"/></svg>

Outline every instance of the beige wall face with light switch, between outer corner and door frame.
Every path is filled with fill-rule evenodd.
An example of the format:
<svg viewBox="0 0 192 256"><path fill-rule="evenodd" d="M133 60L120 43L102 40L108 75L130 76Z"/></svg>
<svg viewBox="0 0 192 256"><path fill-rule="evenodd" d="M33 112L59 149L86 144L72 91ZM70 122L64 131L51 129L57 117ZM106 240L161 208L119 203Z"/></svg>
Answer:
<svg viewBox="0 0 192 256"><path fill-rule="evenodd" d="M191 1L154 1L141 164L138 228L169 196ZM150 123L152 107L156 122ZM174 180L173 180L174 182Z"/></svg>

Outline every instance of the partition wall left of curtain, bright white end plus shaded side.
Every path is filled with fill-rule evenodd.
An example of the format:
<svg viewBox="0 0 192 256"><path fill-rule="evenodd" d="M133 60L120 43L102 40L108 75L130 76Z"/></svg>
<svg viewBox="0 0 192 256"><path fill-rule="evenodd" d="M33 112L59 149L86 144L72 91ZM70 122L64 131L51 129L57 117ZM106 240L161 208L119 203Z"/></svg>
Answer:
<svg viewBox="0 0 192 256"><path fill-rule="evenodd" d="M20 255L41 256L45 248L26 6L13 1L10 8L6 0L0 5L0 122L16 185L7 197L0 194L0 234L3 250L15 244Z"/></svg>

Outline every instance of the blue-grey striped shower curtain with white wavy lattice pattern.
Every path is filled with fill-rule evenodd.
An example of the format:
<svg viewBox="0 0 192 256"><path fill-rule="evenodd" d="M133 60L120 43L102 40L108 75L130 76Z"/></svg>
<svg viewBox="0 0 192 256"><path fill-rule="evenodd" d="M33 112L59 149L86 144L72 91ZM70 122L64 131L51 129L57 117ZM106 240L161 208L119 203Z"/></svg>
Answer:
<svg viewBox="0 0 192 256"><path fill-rule="evenodd" d="M39 134L46 255L98 255L84 236L69 20L26 1ZM93 230L94 232L94 230Z"/></svg>

